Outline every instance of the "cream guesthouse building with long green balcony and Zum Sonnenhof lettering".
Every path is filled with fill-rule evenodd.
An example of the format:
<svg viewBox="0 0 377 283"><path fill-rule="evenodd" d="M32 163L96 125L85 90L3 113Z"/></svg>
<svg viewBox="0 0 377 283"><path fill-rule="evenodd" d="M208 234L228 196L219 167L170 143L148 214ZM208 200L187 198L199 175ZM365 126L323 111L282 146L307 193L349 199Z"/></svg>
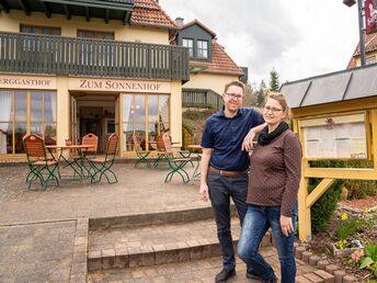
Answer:
<svg viewBox="0 0 377 283"><path fill-rule="evenodd" d="M24 157L26 133L58 145L93 133L100 151L117 133L118 156L168 128L182 142L188 52L170 45L176 25L155 0L2 0L0 11L0 158Z"/></svg>

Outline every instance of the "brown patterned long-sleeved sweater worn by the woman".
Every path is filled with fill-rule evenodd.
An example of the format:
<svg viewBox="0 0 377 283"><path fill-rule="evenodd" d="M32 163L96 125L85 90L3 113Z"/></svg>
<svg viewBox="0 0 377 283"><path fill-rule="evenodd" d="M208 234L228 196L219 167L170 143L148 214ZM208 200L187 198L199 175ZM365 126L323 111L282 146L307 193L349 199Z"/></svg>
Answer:
<svg viewBox="0 0 377 283"><path fill-rule="evenodd" d="M292 216L301 176L301 147L295 133L285 131L269 145L256 145L250 158L247 203L282 206Z"/></svg>

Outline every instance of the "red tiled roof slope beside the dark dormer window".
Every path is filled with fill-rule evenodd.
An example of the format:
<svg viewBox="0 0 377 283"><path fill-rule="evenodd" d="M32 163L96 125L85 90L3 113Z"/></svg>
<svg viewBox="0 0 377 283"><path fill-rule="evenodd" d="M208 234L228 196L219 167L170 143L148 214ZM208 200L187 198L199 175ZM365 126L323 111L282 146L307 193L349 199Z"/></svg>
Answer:
<svg viewBox="0 0 377 283"><path fill-rule="evenodd" d="M213 41L213 60L212 61L196 61L190 60L190 65L203 66L205 72L229 73L242 76L243 70L225 52L225 48Z"/></svg>

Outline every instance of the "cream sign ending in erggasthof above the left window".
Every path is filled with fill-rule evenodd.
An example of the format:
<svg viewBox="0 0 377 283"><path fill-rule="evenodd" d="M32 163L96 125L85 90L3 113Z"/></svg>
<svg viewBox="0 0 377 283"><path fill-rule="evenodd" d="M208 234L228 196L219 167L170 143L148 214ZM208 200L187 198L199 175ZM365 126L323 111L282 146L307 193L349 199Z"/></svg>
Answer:
<svg viewBox="0 0 377 283"><path fill-rule="evenodd" d="M56 90L56 77L0 75L1 89Z"/></svg>

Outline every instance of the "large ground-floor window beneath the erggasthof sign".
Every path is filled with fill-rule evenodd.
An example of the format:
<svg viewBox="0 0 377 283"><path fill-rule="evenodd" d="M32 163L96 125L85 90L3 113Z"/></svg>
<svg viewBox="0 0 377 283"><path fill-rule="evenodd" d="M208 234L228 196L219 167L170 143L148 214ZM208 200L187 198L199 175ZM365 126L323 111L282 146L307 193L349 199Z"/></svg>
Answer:
<svg viewBox="0 0 377 283"><path fill-rule="evenodd" d="M24 154L26 133L56 140L56 91L0 90L0 155Z"/></svg>

